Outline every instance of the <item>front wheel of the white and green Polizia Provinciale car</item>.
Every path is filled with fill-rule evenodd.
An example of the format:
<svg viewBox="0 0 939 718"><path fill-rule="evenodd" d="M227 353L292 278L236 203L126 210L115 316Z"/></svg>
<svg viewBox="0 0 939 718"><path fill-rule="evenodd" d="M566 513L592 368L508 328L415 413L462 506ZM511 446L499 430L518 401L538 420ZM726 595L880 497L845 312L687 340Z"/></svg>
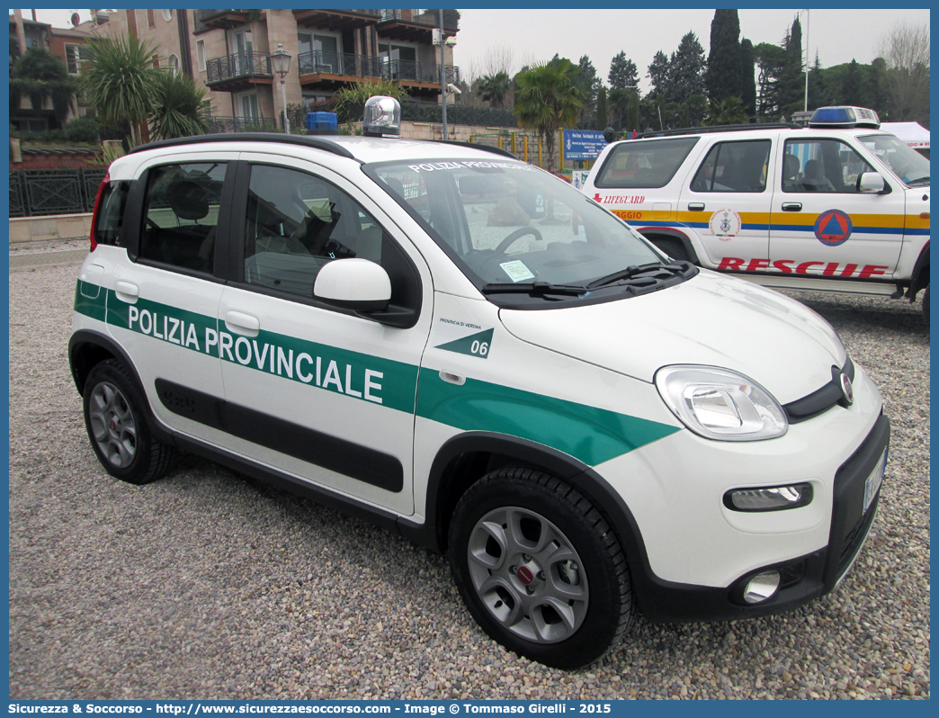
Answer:
<svg viewBox="0 0 939 718"><path fill-rule="evenodd" d="M484 476L454 509L449 550L469 613L532 661L593 663L632 623L619 542L590 501L555 476L518 467Z"/></svg>

